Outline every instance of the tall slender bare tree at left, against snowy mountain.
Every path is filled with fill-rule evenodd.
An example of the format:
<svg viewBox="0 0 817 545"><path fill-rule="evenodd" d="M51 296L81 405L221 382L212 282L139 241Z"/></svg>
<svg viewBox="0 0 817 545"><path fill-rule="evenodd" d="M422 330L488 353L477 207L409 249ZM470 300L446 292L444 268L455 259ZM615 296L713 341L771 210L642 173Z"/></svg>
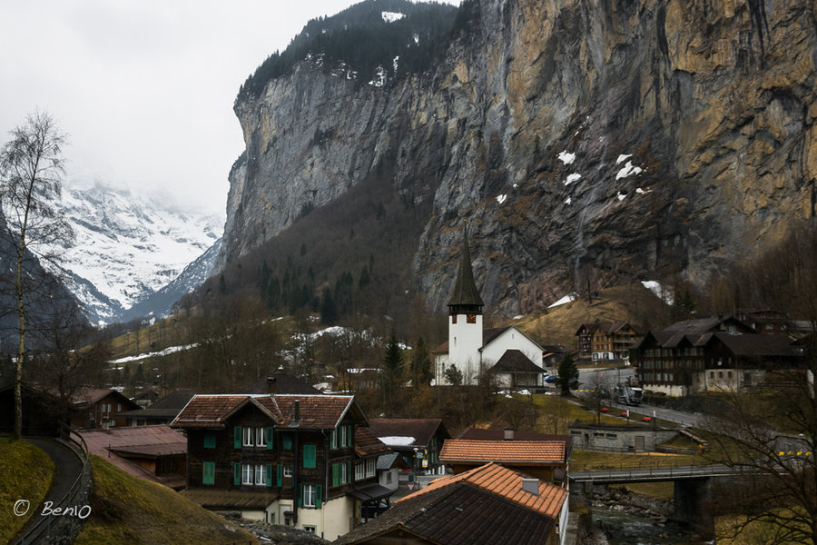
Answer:
<svg viewBox="0 0 817 545"><path fill-rule="evenodd" d="M31 272L58 261L59 250L74 240L71 225L54 210L62 190L63 146L67 136L46 113L29 114L0 150L0 210L5 234L15 248L15 437L23 432L21 384L25 367L26 294Z"/></svg>

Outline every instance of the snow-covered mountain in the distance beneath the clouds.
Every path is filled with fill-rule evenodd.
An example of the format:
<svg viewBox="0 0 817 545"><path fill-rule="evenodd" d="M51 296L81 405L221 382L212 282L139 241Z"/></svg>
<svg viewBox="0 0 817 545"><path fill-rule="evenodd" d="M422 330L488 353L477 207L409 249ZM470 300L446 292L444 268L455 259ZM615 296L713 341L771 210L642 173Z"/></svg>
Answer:
<svg viewBox="0 0 817 545"><path fill-rule="evenodd" d="M140 315L167 312L167 293L153 298L155 307L148 301L218 243L224 224L216 214L87 178L64 183L59 209L76 231L76 243L64 251L65 283L95 323L137 317L127 311L140 302ZM173 292L198 285L207 267L200 263L193 283Z"/></svg>

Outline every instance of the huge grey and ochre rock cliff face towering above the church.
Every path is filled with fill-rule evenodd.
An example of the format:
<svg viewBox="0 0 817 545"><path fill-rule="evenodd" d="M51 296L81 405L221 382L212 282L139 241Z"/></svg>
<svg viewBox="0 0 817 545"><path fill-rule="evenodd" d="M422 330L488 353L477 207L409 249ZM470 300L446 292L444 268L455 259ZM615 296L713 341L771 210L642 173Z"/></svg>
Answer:
<svg viewBox="0 0 817 545"><path fill-rule="evenodd" d="M710 272L814 216L811 0L481 0L434 70L359 88L314 61L236 104L219 267L382 163L433 199L413 269L441 308L469 220L505 315L577 285ZM320 212L320 211L318 211Z"/></svg>

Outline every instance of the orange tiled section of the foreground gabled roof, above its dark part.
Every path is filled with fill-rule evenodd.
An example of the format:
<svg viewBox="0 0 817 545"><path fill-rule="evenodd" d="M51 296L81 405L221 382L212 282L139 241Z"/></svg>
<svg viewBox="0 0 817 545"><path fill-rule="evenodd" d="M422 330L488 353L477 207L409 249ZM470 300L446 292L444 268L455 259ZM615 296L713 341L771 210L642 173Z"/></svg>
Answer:
<svg viewBox="0 0 817 545"><path fill-rule="evenodd" d="M508 501L512 501L521 507L558 520L559 511L562 510L562 506L565 504L567 498L567 490L555 484L540 481L539 493L536 495L522 490L523 478L527 478L527 476L491 462L474 468L473 470L459 473L458 475L441 477L436 481L431 481L426 488L395 501L395 505L404 501L416 500L426 494L460 482L467 482L481 490L486 490Z"/></svg>

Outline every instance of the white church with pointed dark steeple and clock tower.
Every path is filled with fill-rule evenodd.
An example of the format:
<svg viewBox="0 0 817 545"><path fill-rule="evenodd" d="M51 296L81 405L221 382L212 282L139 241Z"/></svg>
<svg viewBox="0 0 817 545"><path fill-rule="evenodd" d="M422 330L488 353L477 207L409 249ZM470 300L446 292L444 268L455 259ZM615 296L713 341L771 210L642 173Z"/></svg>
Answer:
<svg viewBox="0 0 817 545"><path fill-rule="evenodd" d="M448 384L452 366L463 384L483 377L499 388L536 388L543 385L542 347L516 326L484 329L484 304L474 282L468 234L464 231L454 292L448 301L448 342L434 356L435 383Z"/></svg>

